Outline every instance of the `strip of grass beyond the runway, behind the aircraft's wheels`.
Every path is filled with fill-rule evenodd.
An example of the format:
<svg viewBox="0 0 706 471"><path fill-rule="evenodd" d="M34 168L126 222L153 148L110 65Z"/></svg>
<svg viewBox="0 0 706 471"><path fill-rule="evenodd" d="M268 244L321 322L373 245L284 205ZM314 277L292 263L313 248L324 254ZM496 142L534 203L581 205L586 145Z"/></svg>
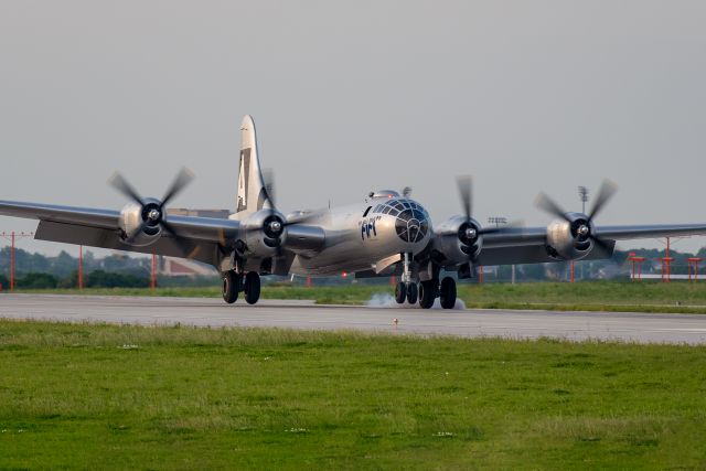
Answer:
<svg viewBox="0 0 706 471"><path fill-rule="evenodd" d="M265 299L313 299L319 303L363 304L374 293L392 293L388 286L355 285L342 287L263 288ZM220 288L87 289L35 292L115 295L115 296L221 296ZM706 282L620 282L588 281L577 283L536 282L520 285L460 285L459 298L469 308L547 309L586 311L634 311L706 313Z"/></svg>

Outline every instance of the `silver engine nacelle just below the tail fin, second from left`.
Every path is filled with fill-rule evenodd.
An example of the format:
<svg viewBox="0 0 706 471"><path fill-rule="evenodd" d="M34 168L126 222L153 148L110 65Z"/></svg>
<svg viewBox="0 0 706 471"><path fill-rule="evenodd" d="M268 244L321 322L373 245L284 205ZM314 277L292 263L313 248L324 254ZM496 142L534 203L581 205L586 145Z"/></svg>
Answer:
<svg viewBox="0 0 706 471"><path fill-rule="evenodd" d="M285 216L277 211L260 210L245 220L245 235L240 247L243 253L267 258L276 255L277 246L287 238Z"/></svg>

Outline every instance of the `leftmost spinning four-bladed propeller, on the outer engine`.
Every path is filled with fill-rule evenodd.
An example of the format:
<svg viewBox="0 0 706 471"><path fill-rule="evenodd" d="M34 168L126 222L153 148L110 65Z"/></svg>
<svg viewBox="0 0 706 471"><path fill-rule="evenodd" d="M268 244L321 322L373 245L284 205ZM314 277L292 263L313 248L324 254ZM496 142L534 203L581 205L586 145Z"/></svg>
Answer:
<svg viewBox="0 0 706 471"><path fill-rule="evenodd" d="M115 172L108 180L108 184L110 184L119 193L131 199L142 208L142 223L136 231L127 235L126 242L129 244L130 242L135 240L135 238L141 232L154 231L154 234L157 234L157 229L161 227L172 235L175 244L179 246L185 257L193 257L193 255L195 255L195 248L197 247L194 248L188 239L181 237L176 228L164 218L164 207L167 206L167 203L169 203L179 193L181 193L193 179L193 172L186 168L182 168L174 178L172 184L164 193L164 197L162 197L161 201L153 201L142 199L142 196L140 196L137 190L135 190L135 188L125 179L125 176L122 176L118 172Z"/></svg>

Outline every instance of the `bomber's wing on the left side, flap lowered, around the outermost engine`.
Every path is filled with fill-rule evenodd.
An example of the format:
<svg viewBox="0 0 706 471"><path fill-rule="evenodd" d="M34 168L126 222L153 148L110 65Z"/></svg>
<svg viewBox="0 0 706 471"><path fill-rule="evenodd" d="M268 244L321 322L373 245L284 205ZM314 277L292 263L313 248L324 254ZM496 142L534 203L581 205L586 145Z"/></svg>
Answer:
<svg viewBox="0 0 706 471"><path fill-rule="evenodd" d="M194 258L214 266L223 256L220 248L239 229L233 220L169 215L170 226L188 244L165 232L153 244L139 247L120 237L118 211L0 201L0 215L39 220L34 236L39 240Z"/></svg>

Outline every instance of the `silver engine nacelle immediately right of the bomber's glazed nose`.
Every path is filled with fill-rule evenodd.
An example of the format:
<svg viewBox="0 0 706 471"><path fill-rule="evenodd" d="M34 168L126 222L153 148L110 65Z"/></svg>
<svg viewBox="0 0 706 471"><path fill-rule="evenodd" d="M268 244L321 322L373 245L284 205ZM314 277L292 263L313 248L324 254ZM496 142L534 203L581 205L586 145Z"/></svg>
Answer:
<svg viewBox="0 0 706 471"><path fill-rule="evenodd" d="M434 249L441 256L446 267L464 264L477 258L483 248L483 236L478 221L453 216L434 231Z"/></svg>

